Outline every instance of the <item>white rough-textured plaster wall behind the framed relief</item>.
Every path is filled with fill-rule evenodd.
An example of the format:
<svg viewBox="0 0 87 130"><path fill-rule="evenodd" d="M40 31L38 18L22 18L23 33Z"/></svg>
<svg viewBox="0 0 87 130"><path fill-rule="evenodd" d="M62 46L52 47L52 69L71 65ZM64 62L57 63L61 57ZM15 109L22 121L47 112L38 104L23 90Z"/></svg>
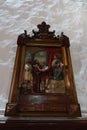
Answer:
<svg viewBox="0 0 87 130"><path fill-rule="evenodd" d="M70 38L76 90L87 112L87 0L0 0L0 110L11 84L17 36L46 21L50 30ZM85 113L86 114L86 113Z"/></svg>

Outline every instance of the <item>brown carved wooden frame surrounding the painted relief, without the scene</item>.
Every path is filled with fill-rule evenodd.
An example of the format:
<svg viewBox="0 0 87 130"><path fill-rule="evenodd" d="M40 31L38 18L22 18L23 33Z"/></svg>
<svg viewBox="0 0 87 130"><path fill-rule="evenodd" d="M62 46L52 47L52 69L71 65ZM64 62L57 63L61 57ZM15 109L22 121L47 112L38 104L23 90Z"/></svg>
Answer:
<svg viewBox="0 0 87 130"><path fill-rule="evenodd" d="M55 31L49 31L50 25L45 22L37 25L37 27L39 30L32 30L32 36L28 35L26 30L18 36L15 65L5 116L81 116L74 83L69 38L63 33L56 36ZM65 93L38 93L20 96L19 86L21 84L25 50L27 47L38 46L42 48L61 48Z"/></svg>

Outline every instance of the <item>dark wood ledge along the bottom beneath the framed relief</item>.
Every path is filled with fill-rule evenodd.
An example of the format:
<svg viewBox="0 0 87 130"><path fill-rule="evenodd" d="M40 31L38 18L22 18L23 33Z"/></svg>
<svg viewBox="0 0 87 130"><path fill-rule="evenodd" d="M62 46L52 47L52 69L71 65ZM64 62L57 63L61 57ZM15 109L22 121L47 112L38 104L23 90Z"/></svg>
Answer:
<svg viewBox="0 0 87 130"><path fill-rule="evenodd" d="M86 118L1 118L0 130L87 130Z"/></svg>

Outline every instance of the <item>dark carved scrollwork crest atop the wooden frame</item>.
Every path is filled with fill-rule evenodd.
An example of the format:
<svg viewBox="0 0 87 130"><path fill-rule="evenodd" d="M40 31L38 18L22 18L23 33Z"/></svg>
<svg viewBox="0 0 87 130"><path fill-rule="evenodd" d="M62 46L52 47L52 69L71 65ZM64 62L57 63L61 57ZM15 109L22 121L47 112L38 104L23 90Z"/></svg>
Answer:
<svg viewBox="0 0 87 130"><path fill-rule="evenodd" d="M61 32L60 35L55 35L55 30L49 31L50 25L46 24L46 22L42 22L37 25L38 31L32 30L32 35L27 34L27 31L24 30L24 33L19 35L17 44L18 45L29 45L30 42L57 42L62 46L69 47L69 38Z"/></svg>

